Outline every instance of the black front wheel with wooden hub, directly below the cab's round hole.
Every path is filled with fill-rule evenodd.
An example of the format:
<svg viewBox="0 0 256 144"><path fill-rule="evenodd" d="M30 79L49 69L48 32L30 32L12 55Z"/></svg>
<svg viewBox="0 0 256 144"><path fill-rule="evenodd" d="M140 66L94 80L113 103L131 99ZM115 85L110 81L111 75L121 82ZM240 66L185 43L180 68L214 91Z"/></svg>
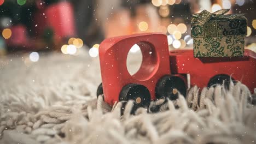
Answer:
<svg viewBox="0 0 256 144"><path fill-rule="evenodd" d="M148 88L135 83L130 83L124 86L119 94L119 101L128 100L134 101L131 113L134 113L138 107L144 107L148 109L151 100Z"/></svg>

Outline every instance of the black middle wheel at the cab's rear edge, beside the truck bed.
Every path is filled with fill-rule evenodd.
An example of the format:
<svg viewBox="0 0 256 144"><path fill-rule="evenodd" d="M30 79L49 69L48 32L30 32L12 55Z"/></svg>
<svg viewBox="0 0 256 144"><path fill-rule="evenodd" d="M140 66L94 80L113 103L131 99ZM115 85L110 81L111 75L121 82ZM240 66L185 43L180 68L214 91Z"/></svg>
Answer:
<svg viewBox="0 0 256 144"><path fill-rule="evenodd" d="M181 77L165 75L156 83L155 94L157 99L169 98L170 100L176 100L178 92L184 97L187 93L187 87Z"/></svg>

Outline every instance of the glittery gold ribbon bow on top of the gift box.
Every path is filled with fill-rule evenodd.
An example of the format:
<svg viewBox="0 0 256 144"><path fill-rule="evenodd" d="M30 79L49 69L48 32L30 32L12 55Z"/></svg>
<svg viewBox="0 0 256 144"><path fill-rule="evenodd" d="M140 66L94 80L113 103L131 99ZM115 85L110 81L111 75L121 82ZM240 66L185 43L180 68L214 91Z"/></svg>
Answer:
<svg viewBox="0 0 256 144"><path fill-rule="evenodd" d="M221 9L221 10L215 11L214 13L210 13L207 10L203 10L199 14L194 14L193 17L195 17L198 22L204 25L206 22L210 21L213 17L218 18L228 12L229 12L229 9Z"/></svg>

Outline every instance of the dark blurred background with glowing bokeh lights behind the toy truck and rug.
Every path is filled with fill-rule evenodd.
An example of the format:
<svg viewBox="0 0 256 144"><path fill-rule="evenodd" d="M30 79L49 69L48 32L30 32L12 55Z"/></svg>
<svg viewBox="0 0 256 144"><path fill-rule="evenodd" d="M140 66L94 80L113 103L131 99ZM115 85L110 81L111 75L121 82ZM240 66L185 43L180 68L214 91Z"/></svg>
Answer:
<svg viewBox="0 0 256 144"><path fill-rule="evenodd" d="M256 51L253 0L0 0L0 57L25 52L37 62L42 51L81 49L97 57L105 38L145 32L166 34L170 50L192 48L191 15L224 8L246 15L246 46Z"/></svg>

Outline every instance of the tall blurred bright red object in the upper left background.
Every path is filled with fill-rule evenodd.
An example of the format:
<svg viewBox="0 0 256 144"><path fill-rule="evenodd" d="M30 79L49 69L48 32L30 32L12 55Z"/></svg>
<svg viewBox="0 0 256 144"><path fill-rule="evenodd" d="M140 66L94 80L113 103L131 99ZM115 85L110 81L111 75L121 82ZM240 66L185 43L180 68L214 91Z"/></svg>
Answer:
<svg viewBox="0 0 256 144"><path fill-rule="evenodd" d="M74 12L71 3L59 2L43 7L35 14L34 31L42 35L46 28L54 32L54 40L75 36Z"/></svg>

